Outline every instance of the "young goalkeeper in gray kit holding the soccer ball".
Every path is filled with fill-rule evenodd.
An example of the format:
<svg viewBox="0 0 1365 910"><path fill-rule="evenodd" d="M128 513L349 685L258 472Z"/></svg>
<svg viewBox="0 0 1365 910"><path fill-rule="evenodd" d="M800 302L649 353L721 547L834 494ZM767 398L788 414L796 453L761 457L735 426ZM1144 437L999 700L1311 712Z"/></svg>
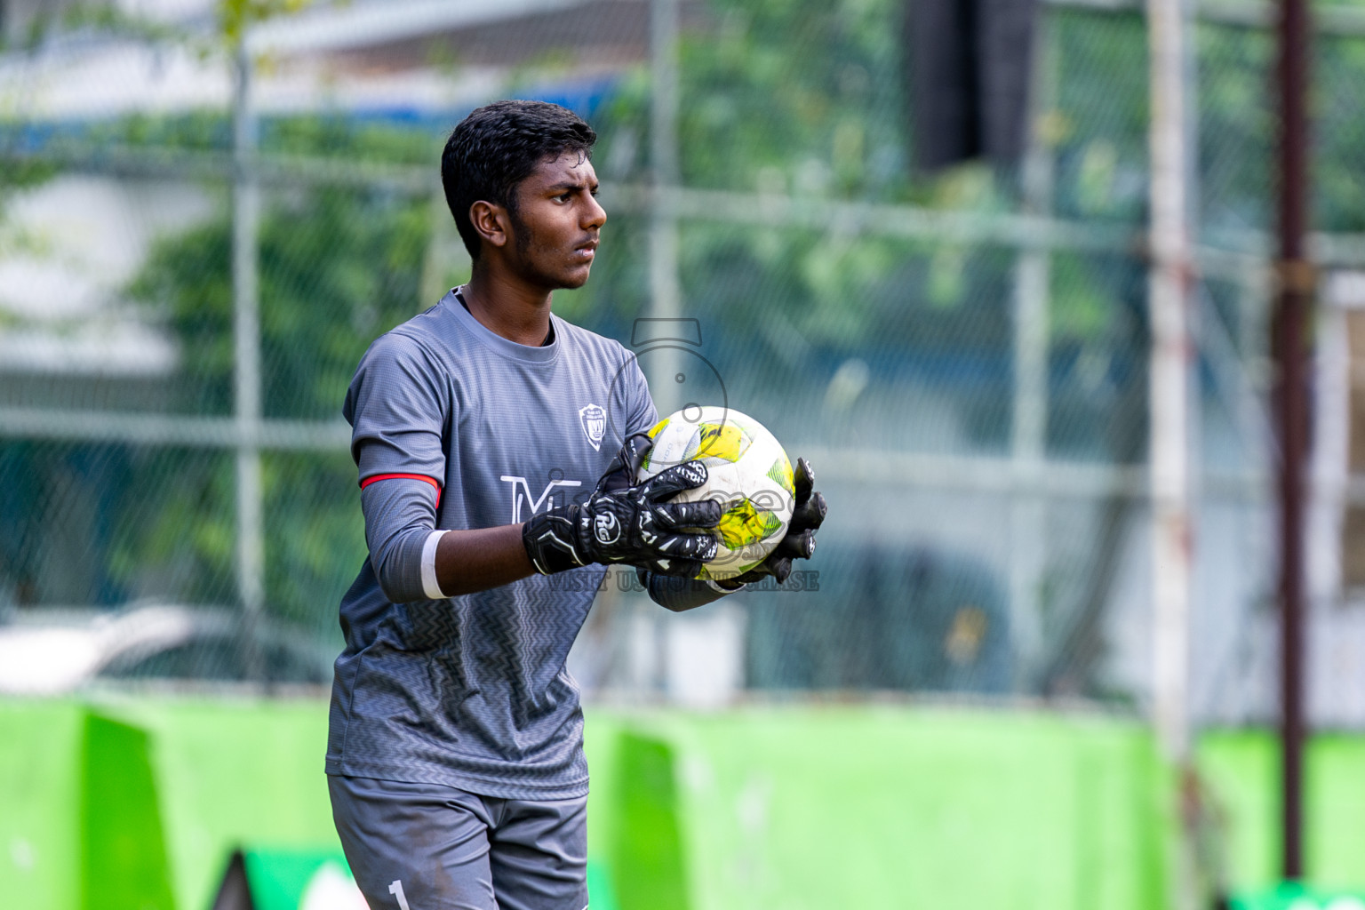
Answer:
<svg viewBox="0 0 1365 910"><path fill-rule="evenodd" d="M673 610L726 593L659 583L715 555L699 531L719 506L667 502L706 468L632 486L658 419L644 377L550 312L606 221L595 141L531 101L455 128L441 179L470 282L378 338L347 392L370 558L341 600L326 772L375 909L583 910L588 769L564 664L603 565L636 566ZM788 536L738 581L814 551L824 501L796 475Z"/></svg>

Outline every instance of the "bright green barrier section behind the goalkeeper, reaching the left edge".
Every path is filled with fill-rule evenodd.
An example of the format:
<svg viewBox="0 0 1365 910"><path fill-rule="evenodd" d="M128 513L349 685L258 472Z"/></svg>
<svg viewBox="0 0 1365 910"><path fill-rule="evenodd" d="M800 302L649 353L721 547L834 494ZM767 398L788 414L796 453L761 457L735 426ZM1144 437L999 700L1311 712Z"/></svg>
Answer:
<svg viewBox="0 0 1365 910"><path fill-rule="evenodd" d="M602 910L618 729L595 718L586 744ZM244 845L340 855L325 748L319 700L0 701L0 907L207 910Z"/></svg>

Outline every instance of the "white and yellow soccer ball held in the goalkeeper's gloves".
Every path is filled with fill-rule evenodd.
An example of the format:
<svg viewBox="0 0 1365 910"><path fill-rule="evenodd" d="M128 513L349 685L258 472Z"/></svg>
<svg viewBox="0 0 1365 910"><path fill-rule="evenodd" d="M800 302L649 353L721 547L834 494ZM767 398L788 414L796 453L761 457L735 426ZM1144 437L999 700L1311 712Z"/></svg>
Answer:
<svg viewBox="0 0 1365 910"><path fill-rule="evenodd" d="M763 562L786 533L796 499L792 463L777 438L753 417L728 408L688 405L650 428L654 447L637 482L684 461L700 461L707 482L674 502L714 499L725 506L715 559L698 578L733 578Z"/></svg>

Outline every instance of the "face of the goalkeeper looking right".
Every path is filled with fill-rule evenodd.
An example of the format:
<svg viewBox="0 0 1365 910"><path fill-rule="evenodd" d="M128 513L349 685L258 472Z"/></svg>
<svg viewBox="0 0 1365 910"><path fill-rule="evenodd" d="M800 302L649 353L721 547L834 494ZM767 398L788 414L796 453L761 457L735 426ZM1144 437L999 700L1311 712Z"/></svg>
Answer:
<svg viewBox="0 0 1365 910"><path fill-rule="evenodd" d="M581 288L592 270L606 211L592 162L576 151L547 158L516 186L509 265L547 291Z"/></svg>

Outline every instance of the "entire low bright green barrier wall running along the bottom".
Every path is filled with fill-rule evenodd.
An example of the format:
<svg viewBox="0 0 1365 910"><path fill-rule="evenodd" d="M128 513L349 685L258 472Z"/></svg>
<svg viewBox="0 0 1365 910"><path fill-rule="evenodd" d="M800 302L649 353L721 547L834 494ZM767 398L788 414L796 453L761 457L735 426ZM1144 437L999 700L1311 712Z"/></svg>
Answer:
<svg viewBox="0 0 1365 910"><path fill-rule="evenodd" d="M1175 790L1136 722L598 709L586 735L595 909L1167 903ZM0 703L0 906L206 910L236 849L336 855L325 742L318 700ZM1233 883L1274 891L1274 738L1211 734L1198 759ZM1312 880L1343 899L1365 888L1365 738L1314 738L1308 771Z"/></svg>

